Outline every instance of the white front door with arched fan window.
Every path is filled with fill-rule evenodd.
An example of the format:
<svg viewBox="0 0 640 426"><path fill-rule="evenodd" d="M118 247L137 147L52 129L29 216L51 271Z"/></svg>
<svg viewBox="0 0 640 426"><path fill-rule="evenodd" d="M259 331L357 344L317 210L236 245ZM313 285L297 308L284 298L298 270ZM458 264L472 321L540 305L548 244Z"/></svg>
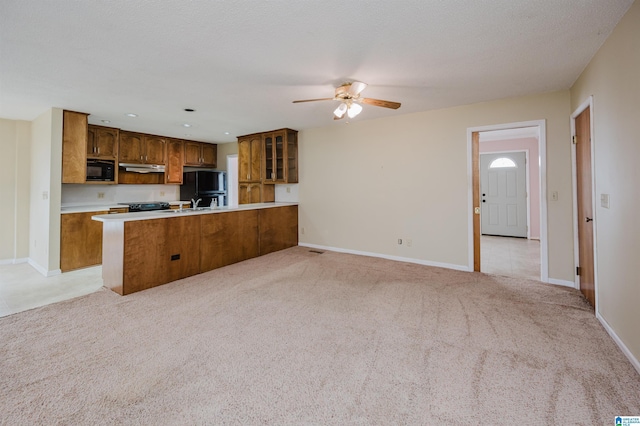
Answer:
<svg viewBox="0 0 640 426"><path fill-rule="evenodd" d="M527 237L524 152L480 155L481 233Z"/></svg>

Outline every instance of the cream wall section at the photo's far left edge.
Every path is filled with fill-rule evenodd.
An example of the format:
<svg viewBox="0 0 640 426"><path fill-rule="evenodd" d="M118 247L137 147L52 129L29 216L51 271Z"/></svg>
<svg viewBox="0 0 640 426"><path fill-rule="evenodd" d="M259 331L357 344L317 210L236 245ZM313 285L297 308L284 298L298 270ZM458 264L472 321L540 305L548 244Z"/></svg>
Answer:
<svg viewBox="0 0 640 426"><path fill-rule="evenodd" d="M29 255L30 123L0 119L0 263Z"/></svg>

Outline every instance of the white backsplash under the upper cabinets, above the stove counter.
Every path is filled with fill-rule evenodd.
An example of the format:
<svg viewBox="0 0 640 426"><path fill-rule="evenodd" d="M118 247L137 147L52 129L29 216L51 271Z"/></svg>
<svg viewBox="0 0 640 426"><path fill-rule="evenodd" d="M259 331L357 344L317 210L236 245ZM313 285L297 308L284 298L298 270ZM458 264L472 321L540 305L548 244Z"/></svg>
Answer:
<svg viewBox="0 0 640 426"><path fill-rule="evenodd" d="M179 199L180 186L178 185L62 185L63 206L177 201Z"/></svg>

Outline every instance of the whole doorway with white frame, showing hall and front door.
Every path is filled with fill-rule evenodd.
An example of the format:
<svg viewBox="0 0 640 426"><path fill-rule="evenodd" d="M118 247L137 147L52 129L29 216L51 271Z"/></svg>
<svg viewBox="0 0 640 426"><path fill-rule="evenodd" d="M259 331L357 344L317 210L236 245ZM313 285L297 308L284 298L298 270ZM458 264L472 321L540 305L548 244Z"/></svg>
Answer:
<svg viewBox="0 0 640 426"><path fill-rule="evenodd" d="M549 281L545 134L544 120L468 129L469 269Z"/></svg>

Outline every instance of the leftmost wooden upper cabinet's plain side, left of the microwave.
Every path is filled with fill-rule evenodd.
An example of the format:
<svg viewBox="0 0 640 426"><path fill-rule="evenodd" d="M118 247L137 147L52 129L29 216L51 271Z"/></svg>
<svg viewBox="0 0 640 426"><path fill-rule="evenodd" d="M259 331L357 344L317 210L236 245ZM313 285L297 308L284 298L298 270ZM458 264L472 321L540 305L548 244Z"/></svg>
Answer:
<svg viewBox="0 0 640 426"><path fill-rule="evenodd" d="M62 115L62 183L87 180L88 114L64 111Z"/></svg>

